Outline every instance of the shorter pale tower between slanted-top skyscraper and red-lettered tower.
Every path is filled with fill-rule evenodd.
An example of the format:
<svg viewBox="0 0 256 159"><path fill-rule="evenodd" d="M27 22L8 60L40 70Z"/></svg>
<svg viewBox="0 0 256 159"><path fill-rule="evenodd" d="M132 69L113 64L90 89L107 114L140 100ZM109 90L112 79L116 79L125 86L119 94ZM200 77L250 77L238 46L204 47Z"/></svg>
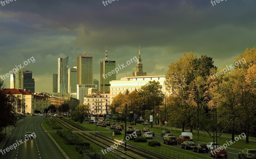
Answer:
<svg viewBox="0 0 256 159"><path fill-rule="evenodd" d="M76 67L68 69L68 93L76 93Z"/></svg>

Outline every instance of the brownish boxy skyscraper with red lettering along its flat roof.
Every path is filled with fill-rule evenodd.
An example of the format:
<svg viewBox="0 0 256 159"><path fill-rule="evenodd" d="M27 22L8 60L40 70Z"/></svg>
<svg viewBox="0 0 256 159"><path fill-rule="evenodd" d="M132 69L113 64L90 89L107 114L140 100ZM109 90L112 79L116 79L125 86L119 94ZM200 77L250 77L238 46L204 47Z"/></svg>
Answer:
<svg viewBox="0 0 256 159"><path fill-rule="evenodd" d="M76 58L76 84L92 84L93 67L92 56L84 55Z"/></svg>

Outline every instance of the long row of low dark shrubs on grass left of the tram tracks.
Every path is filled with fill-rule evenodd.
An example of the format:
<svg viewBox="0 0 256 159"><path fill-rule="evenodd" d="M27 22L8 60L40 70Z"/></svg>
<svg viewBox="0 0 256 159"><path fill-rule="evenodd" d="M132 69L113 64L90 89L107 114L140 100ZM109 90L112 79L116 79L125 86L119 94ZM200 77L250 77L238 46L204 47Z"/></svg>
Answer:
<svg viewBox="0 0 256 159"><path fill-rule="evenodd" d="M57 134L65 139L65 144L67 145L76 145L77 143L83 142L77 134L70 130L57 130Z"/></svg>

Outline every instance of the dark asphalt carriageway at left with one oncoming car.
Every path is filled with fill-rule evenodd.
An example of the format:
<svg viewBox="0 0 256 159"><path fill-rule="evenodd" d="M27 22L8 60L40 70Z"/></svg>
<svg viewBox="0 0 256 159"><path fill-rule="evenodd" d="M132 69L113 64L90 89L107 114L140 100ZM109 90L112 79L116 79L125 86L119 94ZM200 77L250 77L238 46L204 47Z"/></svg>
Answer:
<svg viewBox="0 0 256 159"><path fill-rule="evenodd" d="M65 159L41 127L44 118L45 116L31 116L26 117L24 122L19 123L7 140L3 148L4 151L2 150L0 153L0 159ZM34 132L36 138L26 141L25 133L27 131ZM15 147L16 145L17 147ZM8 150L8 148L10 149Z"/></svg>

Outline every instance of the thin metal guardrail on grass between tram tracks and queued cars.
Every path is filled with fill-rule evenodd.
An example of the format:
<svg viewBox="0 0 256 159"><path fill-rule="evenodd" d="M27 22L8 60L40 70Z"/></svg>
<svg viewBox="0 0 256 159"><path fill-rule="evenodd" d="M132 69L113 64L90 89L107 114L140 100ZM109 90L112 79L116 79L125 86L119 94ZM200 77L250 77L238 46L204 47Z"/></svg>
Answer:
<svg viewBox="0 0 256 159"><path fill-rule="evenodd" d="M182 154L159 146L156 146L156 152L173 157L174 159L200 159L194 156Z"/></svg>

